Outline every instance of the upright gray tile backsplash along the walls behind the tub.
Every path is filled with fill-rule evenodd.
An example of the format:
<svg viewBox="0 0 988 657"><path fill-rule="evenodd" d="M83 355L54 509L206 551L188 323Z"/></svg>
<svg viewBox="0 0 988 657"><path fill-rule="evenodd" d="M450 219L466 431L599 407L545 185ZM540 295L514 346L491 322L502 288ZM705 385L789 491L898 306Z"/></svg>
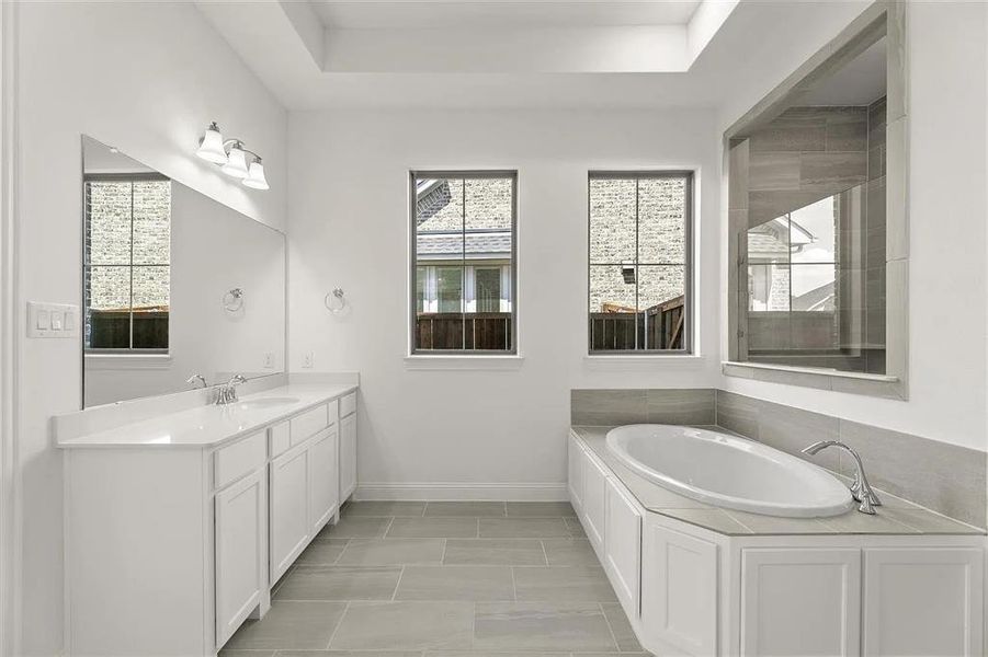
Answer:
<svg viewBox="0 0 988 657"><path fill-rule="evenodd" d="M876 487L922 507L985 528L988 454L717 389L572 390L572 426L680 424L719 427L805 459L817 440L843 440L861 454ZM814 463L853 476L836 450Z"/></svg>

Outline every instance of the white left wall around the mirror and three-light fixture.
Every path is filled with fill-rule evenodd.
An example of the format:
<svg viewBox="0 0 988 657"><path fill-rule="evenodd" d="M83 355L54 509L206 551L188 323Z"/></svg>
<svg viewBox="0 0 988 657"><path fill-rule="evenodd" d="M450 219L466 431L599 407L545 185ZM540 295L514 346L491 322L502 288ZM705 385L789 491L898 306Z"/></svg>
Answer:
<svg viewBox="0 0 988 657"><path fill-rule="evenodd" d="M284 226L284 110L191 4L23 3L19 304L81 301L80 135ZM264 155L247 191L192 155L211 120ZM20 318L16 326L24 325ZM20 338L21 653L63 645L63 470L48 418L80 407L81 345Z"/></svg>

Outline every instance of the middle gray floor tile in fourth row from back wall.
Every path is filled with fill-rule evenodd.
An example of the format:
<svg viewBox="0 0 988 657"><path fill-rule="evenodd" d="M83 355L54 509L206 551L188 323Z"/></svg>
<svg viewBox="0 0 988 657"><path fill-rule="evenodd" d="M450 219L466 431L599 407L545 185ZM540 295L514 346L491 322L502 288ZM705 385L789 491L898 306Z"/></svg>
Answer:
<svg viewBox="0 0 988 657"><path fill-rule="evenodd" d="M508 566L408 566L395 600L514 600Z"/></svg>

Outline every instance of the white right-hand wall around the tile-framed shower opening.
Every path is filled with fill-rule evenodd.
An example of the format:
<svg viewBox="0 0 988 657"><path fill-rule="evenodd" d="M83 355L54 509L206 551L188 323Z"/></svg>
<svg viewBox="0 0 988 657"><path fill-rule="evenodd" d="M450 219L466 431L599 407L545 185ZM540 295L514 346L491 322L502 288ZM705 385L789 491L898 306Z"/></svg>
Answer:
<svg viewBox="0 0 988 657"><path fill-rule="evenodd" d="M726 389L988 449L986 39L981 3L910 2L909 401L731 377L724 378ZM799 61L791 64L794 69ZM765 76L762 93L785 74L772 73ZM746 110L734 107L733 113L725 114L722 129ZM726 298L726 272L723 276L722 295Z"/></svg>

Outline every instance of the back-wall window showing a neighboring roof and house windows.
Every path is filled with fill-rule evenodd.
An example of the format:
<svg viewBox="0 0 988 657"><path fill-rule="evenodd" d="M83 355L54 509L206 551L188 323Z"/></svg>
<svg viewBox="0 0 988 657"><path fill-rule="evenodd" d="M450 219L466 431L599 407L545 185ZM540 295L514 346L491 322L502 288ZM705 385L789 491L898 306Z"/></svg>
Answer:
<svg viewBox="0 0 988 657"><path fill-rule="evenodd" d="M516 351L516 183L412 172L412 354Z"/></svg>

